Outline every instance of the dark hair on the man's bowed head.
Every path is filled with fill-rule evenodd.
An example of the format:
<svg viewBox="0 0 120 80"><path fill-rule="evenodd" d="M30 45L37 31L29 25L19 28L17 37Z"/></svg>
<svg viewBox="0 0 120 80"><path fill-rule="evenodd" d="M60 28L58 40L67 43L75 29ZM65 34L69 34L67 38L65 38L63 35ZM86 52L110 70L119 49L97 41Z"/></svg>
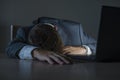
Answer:
<svg viewBox="0 0 120 80"><path fill-rule="evenodd" d="M63 43L58 32L50 25L37 24L29 33L29 42L41 49L60 52Z"/></svg>

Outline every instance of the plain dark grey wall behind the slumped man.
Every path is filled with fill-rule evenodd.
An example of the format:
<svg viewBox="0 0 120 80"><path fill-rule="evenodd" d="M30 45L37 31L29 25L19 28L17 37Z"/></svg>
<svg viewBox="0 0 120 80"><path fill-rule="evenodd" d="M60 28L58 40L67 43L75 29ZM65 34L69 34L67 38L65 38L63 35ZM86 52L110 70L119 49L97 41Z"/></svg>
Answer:
<svg viewBox="0 0 120 80"><path fill-rule="evenodd" d="M101 6L118 6L120 0L0 0L0 52L10 41L10 25L31 25L40 16L80 22L97 39Z"/></svg>

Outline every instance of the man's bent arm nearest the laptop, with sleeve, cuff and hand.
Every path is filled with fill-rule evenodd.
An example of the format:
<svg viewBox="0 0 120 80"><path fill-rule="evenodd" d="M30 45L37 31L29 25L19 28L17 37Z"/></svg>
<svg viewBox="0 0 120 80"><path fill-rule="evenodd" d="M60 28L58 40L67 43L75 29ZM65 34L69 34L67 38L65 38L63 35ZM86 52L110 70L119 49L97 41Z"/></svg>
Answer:
<svg viewBox="0 0 120 80"><path fill-rule="evenodd" d="M82 25L79 25L79 38L81 45L79 46L65 46L63 53L74 56L90 56L95 55L96 40L83 31Z"/></svg>

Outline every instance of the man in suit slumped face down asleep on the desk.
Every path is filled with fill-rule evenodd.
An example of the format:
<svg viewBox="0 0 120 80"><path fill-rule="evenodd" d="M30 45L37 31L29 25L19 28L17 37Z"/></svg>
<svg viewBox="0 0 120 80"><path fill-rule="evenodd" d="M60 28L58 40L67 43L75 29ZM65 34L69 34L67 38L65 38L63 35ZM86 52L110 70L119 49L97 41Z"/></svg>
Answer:
<svg viewBox="0 0 120 80"><path fill-rule="evenodd" d="M40 17L33 23L17 31L6 48L9 57L69 64L64 55L95 55L96 41L83 31L80 23L50 17Z"/></svg>

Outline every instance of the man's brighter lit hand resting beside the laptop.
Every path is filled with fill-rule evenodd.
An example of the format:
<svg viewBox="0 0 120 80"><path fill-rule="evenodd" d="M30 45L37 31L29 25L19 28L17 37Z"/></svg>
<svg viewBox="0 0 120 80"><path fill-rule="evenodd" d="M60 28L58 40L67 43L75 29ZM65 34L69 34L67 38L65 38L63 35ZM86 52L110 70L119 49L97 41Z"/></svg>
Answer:
<svg viewBox="0 0 120 80"><path fill-rule="evenodd" d="M86 49L84 47L73 47L73 46L65 46L63 48L63 54L67 55L81 55L85 56L86 54Z"/></svg>

